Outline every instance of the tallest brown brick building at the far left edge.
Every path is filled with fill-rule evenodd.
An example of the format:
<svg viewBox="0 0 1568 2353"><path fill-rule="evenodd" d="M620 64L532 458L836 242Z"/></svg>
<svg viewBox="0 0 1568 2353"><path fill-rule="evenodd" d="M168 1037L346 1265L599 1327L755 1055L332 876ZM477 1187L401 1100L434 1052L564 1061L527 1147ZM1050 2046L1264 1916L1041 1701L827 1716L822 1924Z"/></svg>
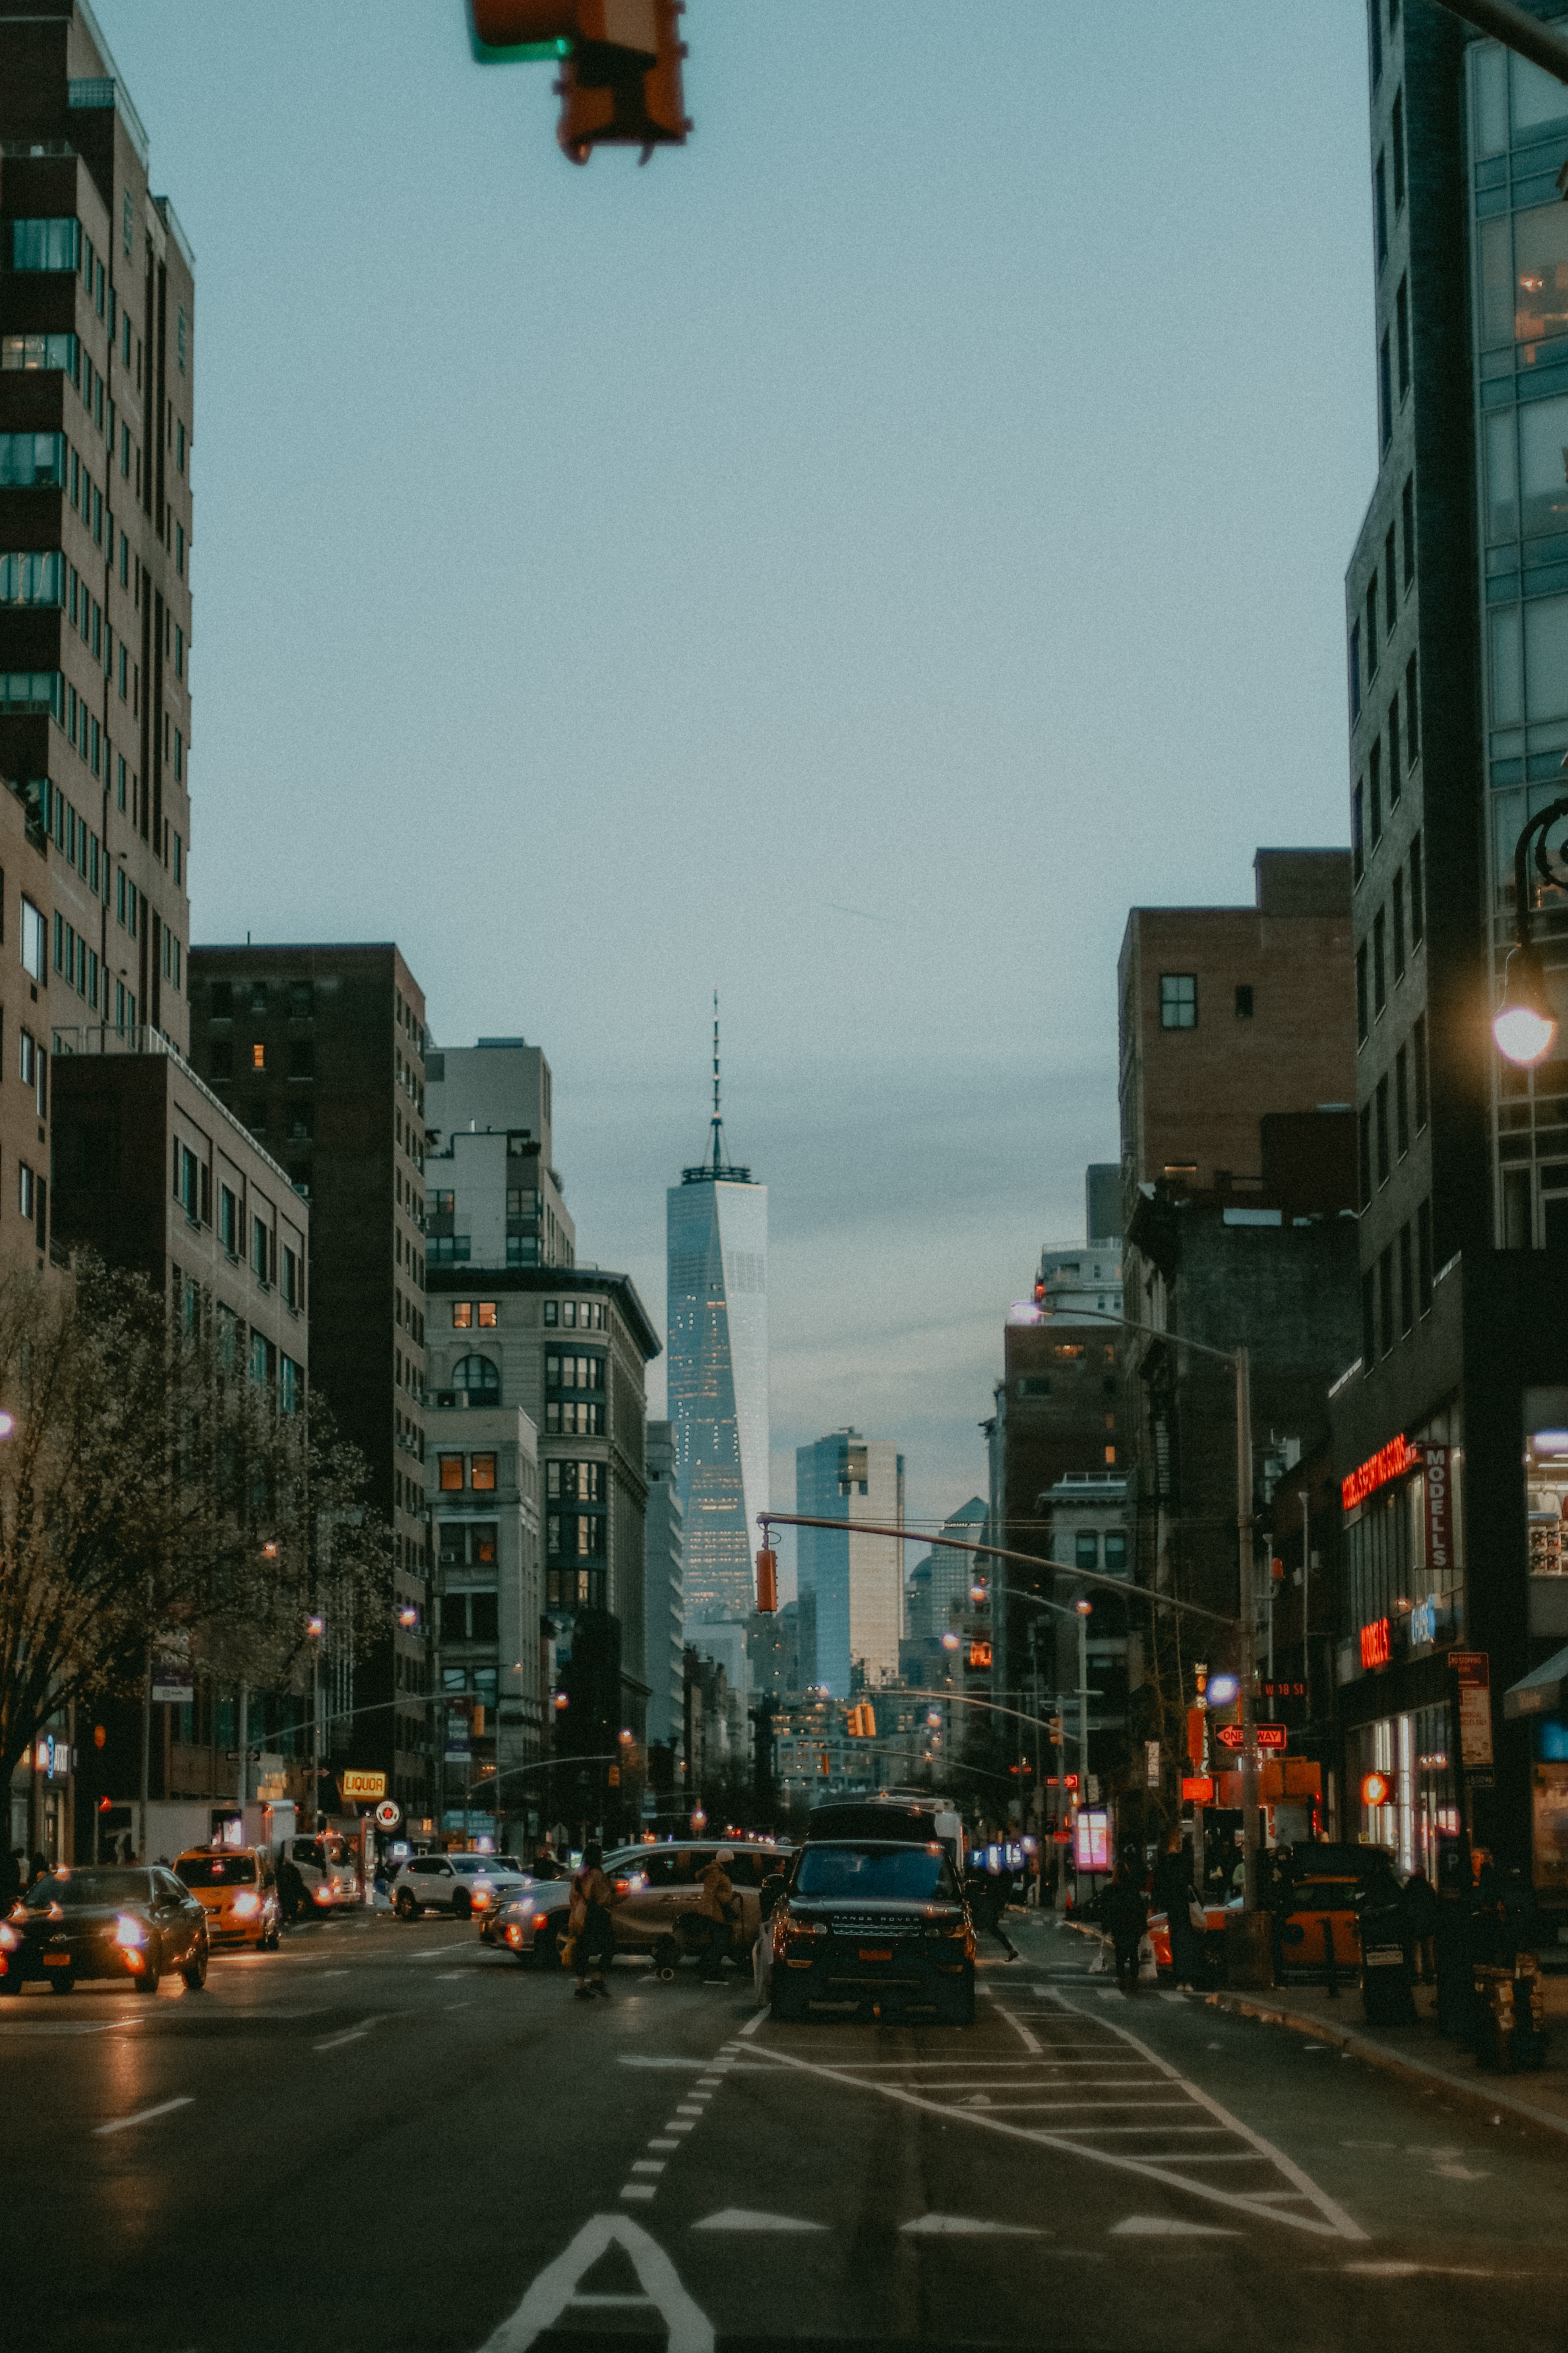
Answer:
<svg viewBox="0 0 1568 2353"><path fill-rule="evenodd" d="M188 1040L195 259L82 0L0 12L0 1266L52 1031ZM2 1082L0 1082L2 1085Z"/></svg>

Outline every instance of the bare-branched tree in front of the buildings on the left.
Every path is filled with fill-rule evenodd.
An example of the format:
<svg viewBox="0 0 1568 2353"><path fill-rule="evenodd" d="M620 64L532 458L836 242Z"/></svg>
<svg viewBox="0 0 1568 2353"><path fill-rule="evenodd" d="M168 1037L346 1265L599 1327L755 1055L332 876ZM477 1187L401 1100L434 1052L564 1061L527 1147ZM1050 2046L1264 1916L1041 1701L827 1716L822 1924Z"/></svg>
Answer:
<svg viewBox="0 0 1568 2353"><path fill-rule="evenodd" d="M0 1280L0 1791L68 1704L139 1687L183 1628L214 1675L277 1687L310 1612L369 1647L393 1539L324 1405L242 1362L209 1301L172 1315L136 1273L78 1257Z"/></svg>

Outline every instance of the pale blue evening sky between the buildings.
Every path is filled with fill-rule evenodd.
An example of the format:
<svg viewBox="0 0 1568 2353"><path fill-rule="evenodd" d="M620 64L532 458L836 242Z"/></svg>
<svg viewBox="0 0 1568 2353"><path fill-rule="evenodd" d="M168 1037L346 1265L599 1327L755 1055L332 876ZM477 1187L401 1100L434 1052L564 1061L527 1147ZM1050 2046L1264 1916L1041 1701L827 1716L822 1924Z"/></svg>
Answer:
<svg viewBox="0 0 1568 2353"><path fill-rule="evenodd" d="M853 1424L945 1515L1126 908L1347 840L1359 0L691 0L646 169L458 0L94 5L197 256L193 936L541 1042L658 1329L717 988L771 1501Z"/></svg>

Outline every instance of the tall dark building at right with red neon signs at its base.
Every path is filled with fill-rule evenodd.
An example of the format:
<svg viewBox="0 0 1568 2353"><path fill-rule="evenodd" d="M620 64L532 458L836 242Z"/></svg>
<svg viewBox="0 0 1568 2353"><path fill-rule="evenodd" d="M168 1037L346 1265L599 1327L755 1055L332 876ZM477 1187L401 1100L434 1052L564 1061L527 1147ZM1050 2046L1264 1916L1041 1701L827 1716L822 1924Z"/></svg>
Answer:
<svg viewBox="0 0 1568 2353"><path fill-rule="evenodd" d="M1429 0L1394 21L1368 0L1366 24L1378 452L1345 576L1361 1318L1333 1398L1342 1826L1429 1871L1474 1831L1563 1906L1568 1718L1497 1701L1568 1640L1568 1061L1502 1064L1488 1019L1514 842L1568 751L1568 94ZM1561 1012L1568 913L1556 887L1537 904ZM1462 1751L1455 1659L1488 1680L1488 1753ZM1373 1769L1389 1805L1363 1802Z"/></svg>

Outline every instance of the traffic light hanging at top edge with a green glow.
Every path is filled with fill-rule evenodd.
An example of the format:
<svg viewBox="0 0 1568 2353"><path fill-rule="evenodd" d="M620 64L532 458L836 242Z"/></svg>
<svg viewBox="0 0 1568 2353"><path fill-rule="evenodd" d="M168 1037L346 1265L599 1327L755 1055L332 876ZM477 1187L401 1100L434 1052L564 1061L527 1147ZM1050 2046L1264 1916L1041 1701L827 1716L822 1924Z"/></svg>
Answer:
<svg viewBox="0 0 1568 2353"><path fill-rule="evenodd" d="M571 162L595 146L682 146L682 0L470 0L482 64L559 59L555 136Z"/></svg>

